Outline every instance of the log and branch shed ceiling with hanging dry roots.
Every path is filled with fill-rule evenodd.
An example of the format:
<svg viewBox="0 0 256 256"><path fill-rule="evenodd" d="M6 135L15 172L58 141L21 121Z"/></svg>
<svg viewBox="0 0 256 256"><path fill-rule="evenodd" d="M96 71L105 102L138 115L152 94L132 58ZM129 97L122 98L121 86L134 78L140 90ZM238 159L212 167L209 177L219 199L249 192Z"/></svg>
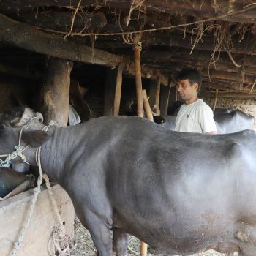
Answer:
<svg viewBox="0 0 256 256"><path fill-rule="evenodd" d="M0 53L15 45L109 67L124 61L133 75L140 41L144 77L166 85L195 67L202 96L256 99L255 1L1 0L0 12Z"/></svg>

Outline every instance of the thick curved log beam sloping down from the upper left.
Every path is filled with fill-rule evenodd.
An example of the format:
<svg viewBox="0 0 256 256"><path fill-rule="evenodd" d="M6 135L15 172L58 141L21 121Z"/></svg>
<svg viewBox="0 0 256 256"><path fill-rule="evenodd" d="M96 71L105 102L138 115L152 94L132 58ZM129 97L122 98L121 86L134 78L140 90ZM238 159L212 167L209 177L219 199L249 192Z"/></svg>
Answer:
<svg viewBox="0 0 256 256"><path fill-rule="evenodd" d="M64 40L62 37L39 31L32 26L20 23L0 14L0 41L31 50L36 53L53 56L56 58L79 61L89 64L99 64L107 67L116 67L124 62L124 68L130 75L135 75L134 63L128 57L118 56L104 50L98 50L89 46ZM133 67L133 69L132 69ZM161 75L158 69L142 67L141 75L146 78L157 78L160 76L162 84L167 85L167 78Z"/></svg>

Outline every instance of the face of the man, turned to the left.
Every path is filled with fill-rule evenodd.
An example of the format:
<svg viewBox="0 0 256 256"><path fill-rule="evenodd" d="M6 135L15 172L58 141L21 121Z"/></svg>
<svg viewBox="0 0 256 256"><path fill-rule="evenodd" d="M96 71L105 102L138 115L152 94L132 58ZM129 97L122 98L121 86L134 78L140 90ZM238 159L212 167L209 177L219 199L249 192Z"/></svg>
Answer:
<svg viewBox="0 0 256 256"><path fill-rule="evenodd" d="M186 103L192 103L197 99L197 88L198 84L191 84L188 79L178 80L179 98Z"/></svg>

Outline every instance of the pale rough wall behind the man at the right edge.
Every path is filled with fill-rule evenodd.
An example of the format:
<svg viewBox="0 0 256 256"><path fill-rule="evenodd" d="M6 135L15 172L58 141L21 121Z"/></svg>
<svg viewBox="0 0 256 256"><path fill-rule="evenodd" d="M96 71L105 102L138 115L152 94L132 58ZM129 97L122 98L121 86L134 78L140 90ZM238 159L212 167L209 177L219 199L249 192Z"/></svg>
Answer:
<svg viewBox="0 0 256 256"><path fill-rule="evenodd" d="M213 106L214 99L203 99L209 106ZM241 100L241 99L217 99L216 108L235 108L244 111L245 113L252 115L256 118L256 102L255 100ZM256 122L255 122L256 130Z"/></svg>

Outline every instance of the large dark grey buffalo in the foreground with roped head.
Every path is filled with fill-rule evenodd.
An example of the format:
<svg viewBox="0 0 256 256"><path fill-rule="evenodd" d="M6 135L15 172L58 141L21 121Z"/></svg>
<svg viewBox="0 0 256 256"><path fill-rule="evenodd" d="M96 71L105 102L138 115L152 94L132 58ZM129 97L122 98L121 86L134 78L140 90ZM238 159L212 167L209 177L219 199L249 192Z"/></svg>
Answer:
<svg viewBox="0 0 256 256"><path fill-rule="evenodd" d="M19 120L1 118L0 154L17 146L31 117L26 110ZM34 151L43 143L43 170L68 192L100 256L113 248L124 256L127 233L155 253L255 255L255 132L173 132L131 116L42 127L33 120L23 130L27 161L36 165Z"/></svg>

